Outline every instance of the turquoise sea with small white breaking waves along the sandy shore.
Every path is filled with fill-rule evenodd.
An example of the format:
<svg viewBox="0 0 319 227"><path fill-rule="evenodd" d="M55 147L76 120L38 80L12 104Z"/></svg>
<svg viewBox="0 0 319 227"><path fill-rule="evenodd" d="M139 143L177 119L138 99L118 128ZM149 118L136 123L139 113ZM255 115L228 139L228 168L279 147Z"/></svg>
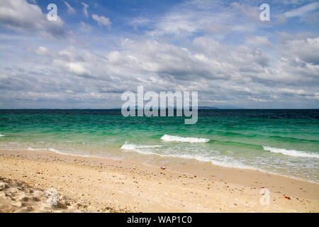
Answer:
<svg viewBox="0 0 319 227"><path fill-rule="evenodd" d="M118 110L1 110L0 149L99 157L180 157L319 182L319 110L202 110L128 117Z"/></svg>

